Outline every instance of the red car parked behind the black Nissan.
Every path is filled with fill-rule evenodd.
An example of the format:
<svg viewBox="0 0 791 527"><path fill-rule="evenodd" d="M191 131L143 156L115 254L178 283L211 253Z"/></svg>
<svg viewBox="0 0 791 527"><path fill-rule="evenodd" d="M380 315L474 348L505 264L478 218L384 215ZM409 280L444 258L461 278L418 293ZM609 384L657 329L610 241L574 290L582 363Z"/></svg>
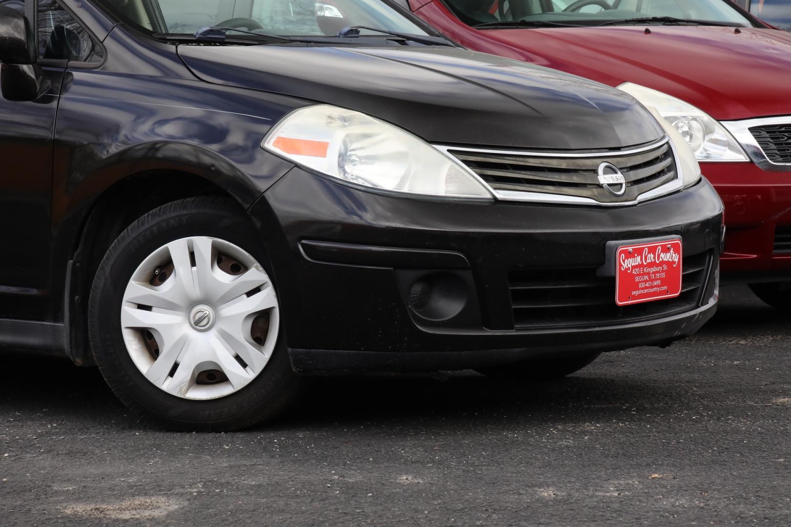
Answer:
<svg viewBox="0 0 791 527"><path fill-rule="evenodd" d="M656 107L725 201L723 280L791 310L791 34L728 0L399 3L475 51Z"/></svg>

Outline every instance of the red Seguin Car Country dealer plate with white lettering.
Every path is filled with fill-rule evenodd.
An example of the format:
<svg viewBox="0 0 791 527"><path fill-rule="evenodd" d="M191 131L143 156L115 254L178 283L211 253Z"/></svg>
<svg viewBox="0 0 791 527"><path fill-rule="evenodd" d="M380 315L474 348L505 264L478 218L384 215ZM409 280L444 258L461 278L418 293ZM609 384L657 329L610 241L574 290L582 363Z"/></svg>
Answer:
<svg viewBox="0 0 791 527"><path fill-rule="evenodd" d="M680 239L623 245L615 252L615 303L619 306L680 294Z"/></svg>

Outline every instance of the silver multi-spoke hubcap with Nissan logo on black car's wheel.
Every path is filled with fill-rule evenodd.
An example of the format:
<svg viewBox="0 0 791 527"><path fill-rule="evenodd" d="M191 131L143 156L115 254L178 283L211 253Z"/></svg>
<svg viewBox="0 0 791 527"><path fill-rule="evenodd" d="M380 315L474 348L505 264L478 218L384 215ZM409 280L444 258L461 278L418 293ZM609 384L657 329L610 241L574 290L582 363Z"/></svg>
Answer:
<svg viewBox="0 0 791 527"><path fill-rule="evenodd" d="M223 239L193 236L153 251L127 284L123 340L135 366L184 399L223 397L266 366L278 299L263 267Z"/></svg>

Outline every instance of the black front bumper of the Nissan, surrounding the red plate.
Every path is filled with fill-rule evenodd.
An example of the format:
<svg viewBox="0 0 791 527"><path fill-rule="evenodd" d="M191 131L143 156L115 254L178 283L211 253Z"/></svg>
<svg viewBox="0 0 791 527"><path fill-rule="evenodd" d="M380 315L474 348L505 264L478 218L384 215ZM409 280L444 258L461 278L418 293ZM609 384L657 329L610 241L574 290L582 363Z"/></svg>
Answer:
<svg viewBox="0 0 791 527"><path fill-rule="evenodd" d="M293 365L304 373L459 369L669 344L716 308L722 204L705 180L605 209L393 197L294 168L250 212L270 250ZM514 307L513 281L525 273L595 271L608 241L664 235L680 235L685 259L704 262L683 305L624 311L613 299L589 312L551 300L557 319ZM420 280L437 295L424 295Z"/></svg>

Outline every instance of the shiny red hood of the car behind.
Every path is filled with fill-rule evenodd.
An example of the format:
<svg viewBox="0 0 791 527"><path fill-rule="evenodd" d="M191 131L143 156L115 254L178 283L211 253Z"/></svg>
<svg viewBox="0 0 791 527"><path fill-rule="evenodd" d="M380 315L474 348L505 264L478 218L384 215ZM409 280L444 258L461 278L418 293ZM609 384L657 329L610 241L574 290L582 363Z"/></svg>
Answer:
<svg viewBox="0 0 791 527"><path fill-rule="evenodd" d="M524 60L676 96L716 119L791 115L791 33L713 26L481 31ZM509 56L513 56L509 54Z"/></svg>

